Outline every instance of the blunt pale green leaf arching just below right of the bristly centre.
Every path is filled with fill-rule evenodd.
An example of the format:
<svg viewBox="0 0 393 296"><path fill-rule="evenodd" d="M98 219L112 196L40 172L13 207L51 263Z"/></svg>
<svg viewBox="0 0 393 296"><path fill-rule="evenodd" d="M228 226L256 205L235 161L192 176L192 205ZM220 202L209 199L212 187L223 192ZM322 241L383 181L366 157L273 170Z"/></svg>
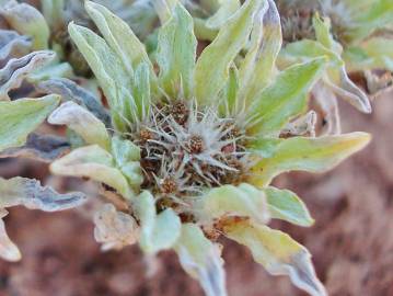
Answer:
<svg viewBox="0 0 393 296"><path fill-rule="evenodd" d="M269 219L264 192L246 183L212 189L194 207L203 223L223 216L250 217L262 224Z"/></svg>

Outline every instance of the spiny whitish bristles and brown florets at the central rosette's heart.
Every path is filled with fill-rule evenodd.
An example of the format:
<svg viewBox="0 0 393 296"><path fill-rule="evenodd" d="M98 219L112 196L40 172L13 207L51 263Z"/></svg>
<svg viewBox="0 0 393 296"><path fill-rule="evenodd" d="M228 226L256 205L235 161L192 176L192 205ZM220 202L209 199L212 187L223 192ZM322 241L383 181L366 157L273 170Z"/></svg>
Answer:
<svg viewBox="0 0 393 296"><path fill-rule="evenodd" d="M242 180L246 137L233 118L181 100L152 105L149 114L127 134L141 149L143 189L176 201Z"/></svg>

